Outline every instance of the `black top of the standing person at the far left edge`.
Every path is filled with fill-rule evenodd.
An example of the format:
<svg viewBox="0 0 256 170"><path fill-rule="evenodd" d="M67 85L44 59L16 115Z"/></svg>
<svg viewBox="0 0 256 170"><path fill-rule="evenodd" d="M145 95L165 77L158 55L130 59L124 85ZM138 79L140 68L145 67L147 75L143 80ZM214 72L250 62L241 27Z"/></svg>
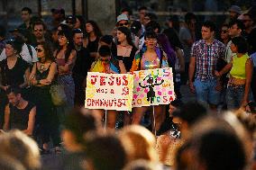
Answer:
<svg viewBox="0 0 256 170"><path fill-rule="evenodd" d="M24 74L29 64L23 58L17 58L12 69L7 66L7 58L0 62L2 85L22 85Z"/></svg>

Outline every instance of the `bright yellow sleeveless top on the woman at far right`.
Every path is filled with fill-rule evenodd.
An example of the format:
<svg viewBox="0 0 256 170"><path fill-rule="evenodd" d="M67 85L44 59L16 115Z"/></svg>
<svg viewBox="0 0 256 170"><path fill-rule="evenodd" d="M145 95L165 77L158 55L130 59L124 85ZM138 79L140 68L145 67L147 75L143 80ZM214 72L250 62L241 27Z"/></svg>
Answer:
<svg viewBox="0 0 256 170"><path fill-rule="evenodd" d="M248 58L250 57L247 54L242 55L240 58L238 58L236 55L233 56L233 65L230 75L234 78L246 79L245 64Z"/></svg>

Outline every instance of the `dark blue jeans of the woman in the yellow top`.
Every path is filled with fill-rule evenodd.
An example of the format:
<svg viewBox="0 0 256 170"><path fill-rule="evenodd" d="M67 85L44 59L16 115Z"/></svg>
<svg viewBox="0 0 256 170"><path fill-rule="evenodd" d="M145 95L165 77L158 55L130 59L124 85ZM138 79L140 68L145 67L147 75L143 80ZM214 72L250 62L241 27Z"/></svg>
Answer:
<svg viewBox="0 0 256 170"><path fill-rule="evenodd" d="M239 109L242 103L245 85L228 85L226 92L227 108Z"/></svg>

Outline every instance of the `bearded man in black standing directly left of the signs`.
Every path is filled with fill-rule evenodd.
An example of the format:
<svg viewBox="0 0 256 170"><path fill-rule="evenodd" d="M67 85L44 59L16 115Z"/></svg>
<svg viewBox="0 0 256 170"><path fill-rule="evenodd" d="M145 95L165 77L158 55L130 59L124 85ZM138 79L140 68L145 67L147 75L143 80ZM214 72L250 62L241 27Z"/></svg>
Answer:
<svg viewBox="0 0 256 170"><path fill-rule="evenodd" d="M93 58L90 57L88 49L83 47L83 31L75 29L72 31L77 59L73 68L73 79L75 83L75 105L85 105L85 87L87 82L87 71L91 67Z"/></svg>

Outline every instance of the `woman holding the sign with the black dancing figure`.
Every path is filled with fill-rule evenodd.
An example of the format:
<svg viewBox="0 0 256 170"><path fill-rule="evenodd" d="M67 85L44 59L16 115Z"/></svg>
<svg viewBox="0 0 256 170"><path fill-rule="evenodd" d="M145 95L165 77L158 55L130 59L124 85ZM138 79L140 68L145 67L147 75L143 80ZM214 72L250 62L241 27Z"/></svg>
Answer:
<svg viewBox="0 0 256 170"><path fill-rule="evenodd" d="M131 71L138 71L138 70L147 70L147 69L155 69L155 68L163 68L169 67L168 65L168 58L164 51L162 51L157 44L157 34L154 31L147 31L145 34L145 45L146 49L144 51L140 50L135 55L133 59L133 67ZM154 92L152 90L152 85L155 81L152 77L148 80L148 83L151 86L149 87L149 92L147 94L147 100L150 103L153 103L153 95ZM160 85L162 82L157 82L157 85ZM143 88L143 86L141 85ZM142 116L144 113L149 109L149 107L136 107L133 108L133 117L132 117L132 124L139 124L142 120ZM160 129L160 124L164 119L164 111L165 108L162 105L154 106L154 110L156 113L156 125L154 127L155 130Z"/></svg>

